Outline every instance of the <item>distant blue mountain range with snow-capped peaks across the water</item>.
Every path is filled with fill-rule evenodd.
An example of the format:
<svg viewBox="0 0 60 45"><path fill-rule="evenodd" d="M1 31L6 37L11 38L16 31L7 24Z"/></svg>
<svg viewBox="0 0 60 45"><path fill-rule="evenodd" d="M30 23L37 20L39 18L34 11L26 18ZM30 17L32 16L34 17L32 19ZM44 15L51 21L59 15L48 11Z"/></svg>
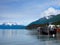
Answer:
<svg viewBox="0 0 60 45"><path fill-rule="evenodd" d="M0 29L25 29L25 27L17 23L0 23Z"/></svg>

